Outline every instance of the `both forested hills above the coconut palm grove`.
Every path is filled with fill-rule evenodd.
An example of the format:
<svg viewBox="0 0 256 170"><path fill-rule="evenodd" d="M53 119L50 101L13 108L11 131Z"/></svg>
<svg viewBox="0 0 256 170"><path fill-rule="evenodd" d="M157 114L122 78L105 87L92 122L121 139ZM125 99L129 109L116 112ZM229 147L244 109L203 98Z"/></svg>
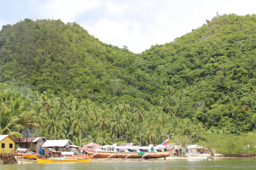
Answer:
<svg viewBox="0 0 256 170"><path fill-rule="evenodd" d="M77 23L24 19L0 31L1 82L197 118L230 133L256 127L256 15L217 15L141 54ZM99 37L100 38L100 37Z"/></svg>

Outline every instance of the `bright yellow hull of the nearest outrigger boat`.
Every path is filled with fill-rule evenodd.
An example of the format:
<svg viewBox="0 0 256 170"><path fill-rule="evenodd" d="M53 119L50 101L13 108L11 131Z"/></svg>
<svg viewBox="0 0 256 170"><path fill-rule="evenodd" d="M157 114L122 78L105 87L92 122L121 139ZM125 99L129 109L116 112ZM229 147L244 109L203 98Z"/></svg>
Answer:
<svg viewBox="0 0 256 170"><path fill-rule="evenodd" d="M42 159L42 158L36 158L37 163L86 163L91 162L92 158L49 158L49 159Z"/></svg>

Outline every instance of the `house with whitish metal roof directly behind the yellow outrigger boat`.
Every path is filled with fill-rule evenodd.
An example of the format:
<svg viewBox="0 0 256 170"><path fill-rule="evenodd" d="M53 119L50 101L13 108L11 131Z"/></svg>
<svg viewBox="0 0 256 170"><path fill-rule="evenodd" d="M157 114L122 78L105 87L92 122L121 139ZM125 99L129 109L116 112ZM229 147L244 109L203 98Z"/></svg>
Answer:
<svg viewBox="0 0 256 170"><path fill-rule="evenodd" d="M43 144L42 148L44 148L44 155L47 155L48 150L49 151L55 150L56 152L77 152L77 148L80 148L80 147L73 145L73 143L69 139L65 139L65 140L47 140Z"/></svg>

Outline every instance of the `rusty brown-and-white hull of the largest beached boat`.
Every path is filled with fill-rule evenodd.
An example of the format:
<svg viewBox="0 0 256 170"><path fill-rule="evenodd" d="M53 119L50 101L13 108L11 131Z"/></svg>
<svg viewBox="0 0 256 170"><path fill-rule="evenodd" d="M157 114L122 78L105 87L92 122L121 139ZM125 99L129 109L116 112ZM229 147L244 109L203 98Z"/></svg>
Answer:
<svg viewBox="0 0 256 170"><path fill-rule="evenodd" d="M94 152L94 151L88 151L86 150L86 152L90 155L93 155L93 158L121 158L121 159L142 159L142 157L144 159L158 159L158 158L164 158L164 157L168 157L170 155L170 153L167 152L145 152L144 155L139 155L138 152ZM97 153L97 154L96 154ZM115 153L115 155L113 155ZM147 154L148 153L148 154ZM95 155L94 155L95 154ZM147 154L147 155L146 155Z"/></svg>

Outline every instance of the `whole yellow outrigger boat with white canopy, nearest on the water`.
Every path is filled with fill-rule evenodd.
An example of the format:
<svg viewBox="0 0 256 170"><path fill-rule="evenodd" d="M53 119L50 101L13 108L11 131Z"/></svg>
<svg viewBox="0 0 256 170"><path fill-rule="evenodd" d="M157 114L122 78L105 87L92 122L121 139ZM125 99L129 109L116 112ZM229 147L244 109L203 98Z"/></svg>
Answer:
<svg viewBox="0 0 256 170"><path fill-rule="evenodd" d="M36 158L38 163L85 163L90 162L92 157L91 155L75 155L76 152L61 152L58 157L50 157L47 159ZM56 155L55 155L56 156Z"/></svg>

